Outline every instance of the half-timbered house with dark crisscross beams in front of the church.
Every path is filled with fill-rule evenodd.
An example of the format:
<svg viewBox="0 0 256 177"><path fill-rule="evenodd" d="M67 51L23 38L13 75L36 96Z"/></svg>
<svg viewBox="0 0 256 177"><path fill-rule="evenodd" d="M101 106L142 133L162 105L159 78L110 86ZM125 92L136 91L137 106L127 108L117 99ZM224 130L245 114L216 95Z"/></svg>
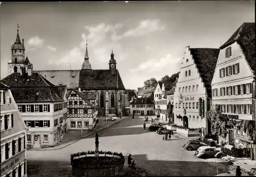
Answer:
<svg viewBox="0 0 256 177"><path fill-rule="evenodd" d="M98 115L96 92L72 90L68 96L68 129L92 130Z"/></svg>

